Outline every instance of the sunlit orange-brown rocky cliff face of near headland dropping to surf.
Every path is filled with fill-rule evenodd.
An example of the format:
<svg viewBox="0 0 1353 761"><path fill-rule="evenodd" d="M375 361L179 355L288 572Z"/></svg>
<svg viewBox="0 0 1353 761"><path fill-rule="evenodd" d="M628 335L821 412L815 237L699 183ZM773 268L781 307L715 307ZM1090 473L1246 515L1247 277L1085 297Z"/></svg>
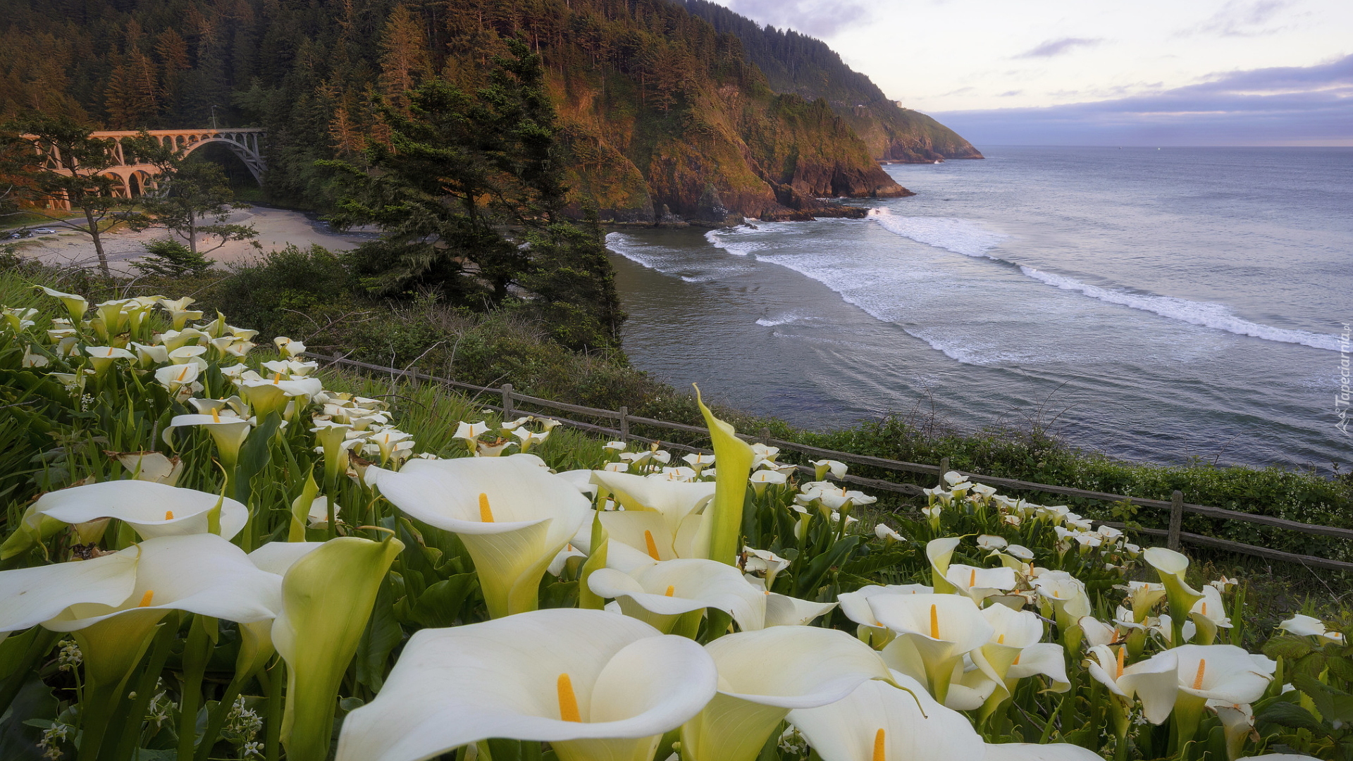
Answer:
<svg viewBox="0 0 1353 761"><path fill-rule="evenodd" d="M597 207L603 221L854 217L862 210L831 199L912 195L821 100L725 84L663 112L602 97L618 87L602 77L555 84L572 202Z"/></svg>

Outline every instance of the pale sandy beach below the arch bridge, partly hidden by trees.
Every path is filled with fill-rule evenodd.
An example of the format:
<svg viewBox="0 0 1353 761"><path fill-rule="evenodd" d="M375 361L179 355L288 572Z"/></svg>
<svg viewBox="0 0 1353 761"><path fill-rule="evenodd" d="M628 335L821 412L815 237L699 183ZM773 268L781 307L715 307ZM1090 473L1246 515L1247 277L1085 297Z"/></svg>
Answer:
<svg viewBox="0 0 1353 761"><path fill-rule="evenodd" d="M248 264L265 253L281 251L288 244L300 248L319 244L329 251L348 251L376 237L367 232L338 233L325 222L300 211L262 206L241 209L231 214L227 222L253 225L258 237L253 241L230 241L208 253L207 256L216 261L216 267ZM32 225L32 227L42 226ZM99 264L89 236L64 229L55 223L46 225L46 227L57 230L57 233L23 240L18 253L54 267L96 267ZM172 233L164 227L150 227L139 233L119 229L103 236L103 248L115 272L131 275L135 271L130 265L145 256L145 244L169 236ZM199 246L210 245L215 245L215 240L199 238Z"/></svg>

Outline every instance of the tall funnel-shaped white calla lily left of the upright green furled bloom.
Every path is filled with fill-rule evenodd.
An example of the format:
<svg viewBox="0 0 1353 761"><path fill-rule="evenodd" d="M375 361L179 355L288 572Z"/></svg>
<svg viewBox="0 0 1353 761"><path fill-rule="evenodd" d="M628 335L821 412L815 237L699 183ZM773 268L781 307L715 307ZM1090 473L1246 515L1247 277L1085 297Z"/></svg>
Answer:
<svg viewBox="0 0 1353 761"><path fill-rule="evenodd" d="M415 459L367 482L405 513L460 536L492 617L533 611L540 578L591 515L572 483L528 459Z"/></svg>

